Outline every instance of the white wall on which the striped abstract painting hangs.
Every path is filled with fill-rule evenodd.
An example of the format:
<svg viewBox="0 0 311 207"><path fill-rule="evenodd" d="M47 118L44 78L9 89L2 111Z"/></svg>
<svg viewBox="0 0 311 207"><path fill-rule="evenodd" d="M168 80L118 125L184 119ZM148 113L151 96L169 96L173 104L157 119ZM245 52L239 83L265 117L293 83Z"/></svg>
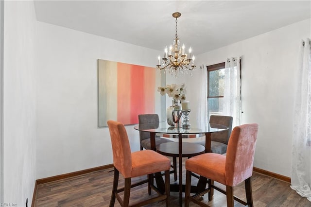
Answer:
<svg viewBox="0 0 311 207"><path fill-rule="evenodd" d="M43 22L37 30L36 178L112 164L108 128L97 127L97 59L155 67L159 52Z"/></svg>

